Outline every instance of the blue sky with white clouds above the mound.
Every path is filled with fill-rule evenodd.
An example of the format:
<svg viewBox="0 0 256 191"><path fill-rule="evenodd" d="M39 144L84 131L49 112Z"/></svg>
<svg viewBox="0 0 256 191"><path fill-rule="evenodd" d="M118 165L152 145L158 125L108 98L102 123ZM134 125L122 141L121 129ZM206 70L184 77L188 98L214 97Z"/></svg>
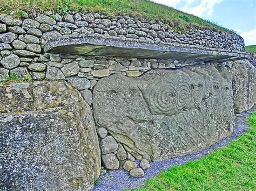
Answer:
<svg viewBox="0 0 256 191"><path fill-rule="evenodd" d="M233 29L256 45L256 0L153 0Z"/></svg>

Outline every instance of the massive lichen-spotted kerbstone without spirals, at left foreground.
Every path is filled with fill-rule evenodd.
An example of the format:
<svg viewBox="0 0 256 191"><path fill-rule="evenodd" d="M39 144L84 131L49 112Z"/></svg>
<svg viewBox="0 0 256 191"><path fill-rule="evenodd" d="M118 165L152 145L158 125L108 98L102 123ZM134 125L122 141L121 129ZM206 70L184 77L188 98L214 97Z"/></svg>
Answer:
<svg viewBox="0 0 256 191"><path fill-rule="evenodd" d="M91 109L79 92L66 82L41 81L0 85L0 93L0 187L92 189L100 150Z"/></svg>

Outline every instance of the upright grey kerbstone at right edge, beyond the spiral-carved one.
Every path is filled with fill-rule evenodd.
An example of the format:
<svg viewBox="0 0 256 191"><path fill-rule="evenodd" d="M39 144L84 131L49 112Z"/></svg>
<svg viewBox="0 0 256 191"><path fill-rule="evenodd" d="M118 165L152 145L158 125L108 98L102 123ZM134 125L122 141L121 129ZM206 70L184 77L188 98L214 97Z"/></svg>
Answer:
<svg viewBox="0 0 256 191"><path fill-rule="evenodd" d="M240 113L253 107L256 86L254 66L247 60L235 61L232 67L234 111Z"/></svg>

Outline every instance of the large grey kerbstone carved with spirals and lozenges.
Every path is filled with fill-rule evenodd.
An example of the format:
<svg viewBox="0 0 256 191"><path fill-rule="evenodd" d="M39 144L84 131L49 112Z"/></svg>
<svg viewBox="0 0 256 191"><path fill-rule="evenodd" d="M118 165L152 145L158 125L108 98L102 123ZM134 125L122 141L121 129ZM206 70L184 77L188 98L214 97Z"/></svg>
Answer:
<svg viewBox="0 0 256 191"><path fill-rule="evenodd" d="M96 123L137 159L186 155L232 133L232 77L209 65L114 74L96 84L93 110Z"/></svg>

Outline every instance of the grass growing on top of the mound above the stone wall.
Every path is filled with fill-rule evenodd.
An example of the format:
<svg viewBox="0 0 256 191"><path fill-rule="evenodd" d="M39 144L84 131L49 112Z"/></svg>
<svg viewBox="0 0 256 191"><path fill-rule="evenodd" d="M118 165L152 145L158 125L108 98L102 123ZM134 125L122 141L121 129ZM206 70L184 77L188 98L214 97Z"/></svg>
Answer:
<svg viewBox="0 0 256 191"><path fill-rule="evenodd" d="M166 26L171 26L179 33L186 32L189 27L234 33L233 30L228 30L217 23L146 0L136 2L131 0L0 0L0 3L0 13L15 11L18 16L24 15L24 11L29 14L44 11L62 14L68 11L91 11L106 13L110 16L126 14L161 20Z"/></svg>

